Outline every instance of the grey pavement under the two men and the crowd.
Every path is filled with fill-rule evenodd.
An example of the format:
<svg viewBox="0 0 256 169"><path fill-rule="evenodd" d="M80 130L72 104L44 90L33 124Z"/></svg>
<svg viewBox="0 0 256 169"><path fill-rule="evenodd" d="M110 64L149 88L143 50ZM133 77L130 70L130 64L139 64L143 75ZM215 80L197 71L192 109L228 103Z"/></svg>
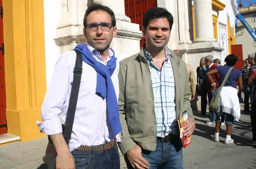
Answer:
<svg viewBox="0 0 256 169"><path fill-rule="evenodd" d="M241 107L242 108L242 107ZM221 126L220 142L213 142L214 125L205 124L209 115L194 112L196 130L192 143L183 151L184 169L253 169L256 168L256 146L248 146L252 139L250 115L241 111L239 123L235 122L231 137L234 144L224 144L225 125ZM1 169L47 169L44 164L47 137L27 142L0 146ZM121 169L125 169L123 156Z"/></svg>

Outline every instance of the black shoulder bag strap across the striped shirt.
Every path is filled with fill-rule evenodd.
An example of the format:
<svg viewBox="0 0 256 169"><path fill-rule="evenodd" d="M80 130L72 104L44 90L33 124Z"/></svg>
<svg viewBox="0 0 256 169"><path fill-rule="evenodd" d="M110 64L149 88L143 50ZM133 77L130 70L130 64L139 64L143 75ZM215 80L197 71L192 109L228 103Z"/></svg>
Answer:
<svg viewBox="0 0 256 169"><path fill-rule="evenodd" d="M77 98L78 98L78 93L79 93L79 88L80 88L81 76L82 76L82 72L83 72L82 55L79 51L76 51L76 50L74 50L74 51L76 52L76 64L75 64L75 68L73 70L73 73L74 73L73 84L71 87L70 98L69 98L69 103L68 103L68 112L67 112L67 116L66 116L65 129L64 129L64 133L63 133L63 136L64 136L67 144L69 143L69 141L71 139L71 133L72 133L75 112L76 112L76 103L77 103Z"/></svg>

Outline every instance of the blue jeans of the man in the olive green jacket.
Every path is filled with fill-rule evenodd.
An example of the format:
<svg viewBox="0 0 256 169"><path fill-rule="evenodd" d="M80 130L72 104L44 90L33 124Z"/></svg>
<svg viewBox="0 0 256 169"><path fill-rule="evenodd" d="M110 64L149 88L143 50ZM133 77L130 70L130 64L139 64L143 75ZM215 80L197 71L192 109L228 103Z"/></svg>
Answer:
<svg viewBox="0 0 256 169"><path fill-rule="evenodd" d="M177 144L180 143L180 139L177 139ZM174 145L171 142L161 142L157 140L156 150L148 151L142 150L142 156L150 164L150 169L183 169L183 156L182 149L179 145ZM128 169L133 169L130 162L124 156Z"/></svg>

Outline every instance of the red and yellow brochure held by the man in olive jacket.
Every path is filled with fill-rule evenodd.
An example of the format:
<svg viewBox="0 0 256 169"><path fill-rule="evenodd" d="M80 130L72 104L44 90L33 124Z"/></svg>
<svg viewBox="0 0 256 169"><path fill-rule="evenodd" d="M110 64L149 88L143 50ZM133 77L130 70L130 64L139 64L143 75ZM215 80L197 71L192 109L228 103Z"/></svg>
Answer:
<svg viewBox="0 0 256 169"><path fill-rule="evenodd" d="M180 128L180 138L183 143L183 147L186 148L191 142L192 142L192 137L191 135L189 137L183 137L183 130L184 127L188 124L188 113L184 113L182 116L180 116L178 120L179 128Z"/></svg>

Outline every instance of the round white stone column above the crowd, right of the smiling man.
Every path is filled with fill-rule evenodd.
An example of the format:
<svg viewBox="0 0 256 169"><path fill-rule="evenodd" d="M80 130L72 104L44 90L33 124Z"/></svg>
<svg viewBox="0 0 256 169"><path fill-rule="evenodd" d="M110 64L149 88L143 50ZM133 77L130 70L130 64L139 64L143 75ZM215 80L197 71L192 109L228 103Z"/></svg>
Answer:
<svg viewBox="0 0 256 169"><path fill-rule="evenodd" d="M212 0L194 0L196 42L217 41L213 37Z"/></svg>

